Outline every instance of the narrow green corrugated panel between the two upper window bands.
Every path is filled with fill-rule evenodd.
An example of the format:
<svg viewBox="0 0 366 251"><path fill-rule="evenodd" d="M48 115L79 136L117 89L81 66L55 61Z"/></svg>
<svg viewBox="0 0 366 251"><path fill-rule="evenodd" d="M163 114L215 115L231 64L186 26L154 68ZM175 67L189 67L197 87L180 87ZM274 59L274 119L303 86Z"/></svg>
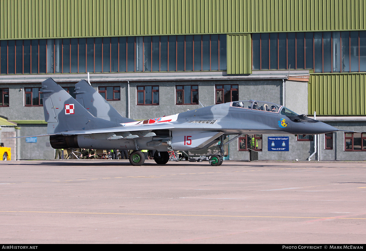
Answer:
<svg viewBox="0 0 366 251"><path fill-rule="evenodd" d="M251 37L250 34L227 36L227 73L251 73Z"/></svg>

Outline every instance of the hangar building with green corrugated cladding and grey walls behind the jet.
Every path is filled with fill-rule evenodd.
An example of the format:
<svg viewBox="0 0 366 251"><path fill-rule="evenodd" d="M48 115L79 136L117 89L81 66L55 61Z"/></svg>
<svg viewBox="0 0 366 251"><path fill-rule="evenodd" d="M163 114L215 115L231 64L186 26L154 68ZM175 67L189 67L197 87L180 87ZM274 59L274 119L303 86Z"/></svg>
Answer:
<svg viewBox="0 0 366 251"><path fill-rule="evenodd" d="M320 160L364 160L365 12L364 0L2 0L0 115L17 136L45 134L41 82L74 95L90 72L131 119L261 100L354 131L290 136L289 151L246 135L233 160L249 138L262 160L305 160L314 144ZM47 137L13 143L13 159L54 156Z"/></svg>

